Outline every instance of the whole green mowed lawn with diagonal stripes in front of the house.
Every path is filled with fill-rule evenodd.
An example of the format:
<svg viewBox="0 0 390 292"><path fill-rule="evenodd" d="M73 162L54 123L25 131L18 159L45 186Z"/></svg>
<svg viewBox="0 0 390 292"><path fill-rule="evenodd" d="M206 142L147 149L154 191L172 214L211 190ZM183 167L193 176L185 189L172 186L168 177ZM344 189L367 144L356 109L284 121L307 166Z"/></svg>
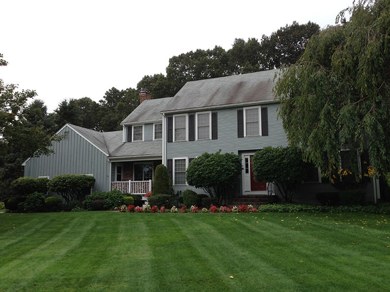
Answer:
<svg viewBox="0 0 390 292"><path fill-rule="evenodd" d="M380 214L0 214L0 291L388 291Z"/></svg>

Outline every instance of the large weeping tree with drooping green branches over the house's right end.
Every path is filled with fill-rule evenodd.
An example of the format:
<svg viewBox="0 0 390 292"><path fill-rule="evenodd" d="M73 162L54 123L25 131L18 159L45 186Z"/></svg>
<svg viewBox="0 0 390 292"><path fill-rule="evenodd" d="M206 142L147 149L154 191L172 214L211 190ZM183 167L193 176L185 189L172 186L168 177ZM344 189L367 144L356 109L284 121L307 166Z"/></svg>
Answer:
<svg viewBox="0 0 390 292"><path fill-rule="evenodd" d="M280 71L274 92L283 126L290 144L331 179L340 174L340 150L368 149L371 174L390 181L390 0L359 1L339 19Z"/></svg>

